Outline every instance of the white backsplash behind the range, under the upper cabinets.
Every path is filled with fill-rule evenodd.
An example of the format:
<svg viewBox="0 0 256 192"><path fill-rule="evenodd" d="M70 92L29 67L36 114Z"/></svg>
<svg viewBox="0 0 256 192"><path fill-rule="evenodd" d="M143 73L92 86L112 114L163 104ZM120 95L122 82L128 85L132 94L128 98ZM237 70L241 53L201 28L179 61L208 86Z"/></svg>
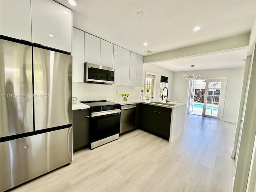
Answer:
<svg viewBox="0 0 256 192"><path fill-rule="evenodd" d="M130 94L128 100L139 99L142 87L104 85L91 83L72 83L72 97L77 101L122 100L121 93ZM118 94L116 94L118 90Z"/></svg>

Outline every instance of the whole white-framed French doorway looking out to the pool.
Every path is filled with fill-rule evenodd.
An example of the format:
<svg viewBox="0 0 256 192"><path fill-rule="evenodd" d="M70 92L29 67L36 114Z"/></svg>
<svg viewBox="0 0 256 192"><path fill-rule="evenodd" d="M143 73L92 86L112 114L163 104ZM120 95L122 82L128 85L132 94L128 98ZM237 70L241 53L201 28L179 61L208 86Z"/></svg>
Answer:
<svg viewBox="0 0 256 192"><path fill-rule="evenodd" d="M220 119L225 78L190 80L187 113Z"/></svg>

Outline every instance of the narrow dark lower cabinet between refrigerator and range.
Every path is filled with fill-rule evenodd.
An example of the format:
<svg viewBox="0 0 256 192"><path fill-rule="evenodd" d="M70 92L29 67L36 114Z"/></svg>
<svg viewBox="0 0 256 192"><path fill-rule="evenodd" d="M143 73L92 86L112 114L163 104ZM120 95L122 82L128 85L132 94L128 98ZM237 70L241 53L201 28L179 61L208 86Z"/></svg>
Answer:
<svg viewBox="0 0 256 192"><path fill-rule="evenodd" d="M89 146L90 109L73 110L73 152Z"/></svg>

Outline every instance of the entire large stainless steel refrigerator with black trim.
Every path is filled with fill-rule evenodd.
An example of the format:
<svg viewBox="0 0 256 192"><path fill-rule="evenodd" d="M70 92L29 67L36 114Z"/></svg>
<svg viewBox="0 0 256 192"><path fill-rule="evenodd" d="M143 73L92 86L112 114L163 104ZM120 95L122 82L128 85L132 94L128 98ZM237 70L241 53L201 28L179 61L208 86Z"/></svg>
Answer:
<svg viewBox="0 0 256 192"><path fill-rule="evenodd" d="M72 56L1 36L0 191L72 161Z"/></svg>

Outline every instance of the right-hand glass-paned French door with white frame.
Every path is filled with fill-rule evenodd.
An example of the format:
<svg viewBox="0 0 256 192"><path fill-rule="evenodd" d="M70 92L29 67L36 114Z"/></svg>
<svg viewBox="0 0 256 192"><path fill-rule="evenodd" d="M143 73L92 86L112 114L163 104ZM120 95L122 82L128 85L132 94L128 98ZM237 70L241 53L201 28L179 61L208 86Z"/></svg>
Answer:
<svg viewBox="0 0 256 192"><path fill-rule="evenodd" d="M224 80L206 80L203 116L220 119Z"/></svg>

